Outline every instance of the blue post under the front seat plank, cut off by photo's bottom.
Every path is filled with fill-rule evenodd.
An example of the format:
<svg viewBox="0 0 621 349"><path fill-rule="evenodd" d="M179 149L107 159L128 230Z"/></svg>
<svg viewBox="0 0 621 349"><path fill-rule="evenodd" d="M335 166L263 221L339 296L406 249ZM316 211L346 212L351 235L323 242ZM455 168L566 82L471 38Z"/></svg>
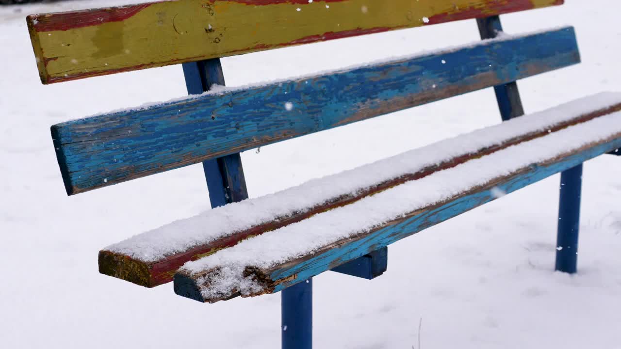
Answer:
<svg viewBox="0 0 621 349"><path fill-rule="evenodd" d="M312 278L281 292L283 349L312 348Z"/></svg>

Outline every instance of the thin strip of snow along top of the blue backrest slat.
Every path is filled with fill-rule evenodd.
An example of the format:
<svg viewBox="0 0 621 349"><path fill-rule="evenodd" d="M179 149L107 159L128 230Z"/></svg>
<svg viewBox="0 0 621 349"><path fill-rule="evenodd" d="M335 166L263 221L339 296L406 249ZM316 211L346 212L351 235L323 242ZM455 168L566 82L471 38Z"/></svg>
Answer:
<svg viewBox="0 0 621 349"><path fill-rule="evenodd" d="M312 74L308 74L308 75L296 76L294 78L288 78L288 79L273 79L271 81L263 81L263 82L260 82L260 83L246 84L246 85L242 85L242 86L220 86L218 84L214 84L211 87L211 89L209 89L209 91L205 91L204 93L201 93L201 94L193 94L191 96L176 97L176 98L169 99L168 101L147 102L147 103L144 103L144 104L142 104L140 106L115 109L113 111L97 113L97 114L94 114L92 116L88 116L88 117L85 117L85 118L78 118L78 119L73 119L73 120L70 119L70 120L68 120L66 122L75 121L75 120L86 120L86 119L91 119L93 117L99 117L99 116L110 115L110 114L125 113L125 112L132 112L132 111L143 111L145 109L153 109L153 108L160 107L160 106L182 104L182 103L185 103L185 102L188 102L188 101L193 101L194 99L200 99L202 96L207 96L207 95L221 96L223 94L235 93L236 91L243 91L243 90L253 89L253 88L261 88L261 87L269 86L269 85L272 85L272 84L286 83L288 81L301 81L301 82L303 82L304 80L314 79L314 78L317 78L318 76L322 76L322 75L333 75L333 74L338 74L338 73L345 73L347 71L368 68L369 66L374 66L374 65L383 65L383 64L388 64L388 63L397 62L397 61L414 60L415 58L422 58L422 57L428 57L428 56L434 56L434 55L442 55L443 53L444 54L452 53L452 52L456 52L456 51L459 51L459 50L463 50L465 48L473 48L473 47L478 47L478 46L493 45L494 43L498 43L498 42L515 40L515 39L520 39L520 38L523 38L523 37L529 37L529 36L532 36L532 35L543 34L543 33L546 33L546 32L553 32L555 30L563 30L563 29L571 29L571 26L564 25L564 26L561 26L561 27L553 27L553 28L543 29L543 30L533 30L533 31L530 31L530 32L524 32L524 33L520 33L520 34L507 34L507 33L503 32L502 35L499 35L498 37L493 38L493 39L484 39L484 40L474 41L474 42L471 42L471 43L466 43L465 45L458 45L458 46L453 46L453 47L440 48L438 50L422 50L420 52L415 53L414 55L406 55L406 56L399 56L399 57L387 57L387 58L382 58L381 60L370 61L370 62L364 63L362 65L346 66L346 67L340 68L338 70L317 71L316 73L312 73ZM65 124L66 122L63 122L62 124Z"/></svg>

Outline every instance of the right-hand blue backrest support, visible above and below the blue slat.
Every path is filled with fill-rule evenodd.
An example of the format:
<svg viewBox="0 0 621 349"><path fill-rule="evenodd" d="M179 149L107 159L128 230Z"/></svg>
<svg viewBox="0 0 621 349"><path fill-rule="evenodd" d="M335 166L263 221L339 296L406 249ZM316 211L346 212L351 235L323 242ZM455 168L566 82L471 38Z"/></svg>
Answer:
<svg viewBox="0 0 621 349"><path fill-rule="evenodd" d="M481 39L494 39L498 34L502 33L500 16L481 18L477 19L476 22L479 25ZM520 93L515 81L494 86L494 93L496 93L496 101L498 102L502 121L524 115L522 99L520 99Z"/></svg>

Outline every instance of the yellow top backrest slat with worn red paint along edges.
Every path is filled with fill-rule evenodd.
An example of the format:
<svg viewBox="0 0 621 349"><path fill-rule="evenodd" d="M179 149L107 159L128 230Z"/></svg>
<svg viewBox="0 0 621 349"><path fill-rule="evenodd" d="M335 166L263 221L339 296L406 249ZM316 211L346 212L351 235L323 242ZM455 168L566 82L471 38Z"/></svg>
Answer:
<svg viewBox="0 0 621 349"><path fill-rule="evenodd" d="M487 17L563 0L179 0L27 18L44 84Z"/></svg>

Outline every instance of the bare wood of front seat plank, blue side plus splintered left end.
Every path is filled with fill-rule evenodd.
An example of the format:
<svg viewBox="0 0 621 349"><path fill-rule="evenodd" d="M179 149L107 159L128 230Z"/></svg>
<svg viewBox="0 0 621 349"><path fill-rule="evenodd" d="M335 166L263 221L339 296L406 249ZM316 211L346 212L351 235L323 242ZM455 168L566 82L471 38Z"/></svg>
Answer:
<svg viewBox="0 0 621 349"><path fill-rule="evenodd" d="M347 238L332 243L312 255L288 261L273 268L262 269L248 266L244 271L244 275L255 279L265 289L247 296L259 296L260 294L282 291L289 286L312 278L324 271L331 270L335 266L355 260L378 248L388 246L402 238L493 201L497 198L494 192L498 189L504 193L512 193L517 189L524 188L552 174L573 168L586 160L620 146L621 133L605 140L589 143L575 152L565 153L552 160L533 163L505 176L496 178L487 184L471 188L465 193L450 197L443 202L410 212L404 217L391 222L386 222L370 232L360 233L355 238ZM208 288L209 285L201 284L197 279L209 279L209 273L212 272L217 273L217 270L196 274L177 273L175 275L175 293L201 302L217 302L238 296L238 294L232 294L227 296L226 299L205 298L201 293L201 289Z"/></svg>

